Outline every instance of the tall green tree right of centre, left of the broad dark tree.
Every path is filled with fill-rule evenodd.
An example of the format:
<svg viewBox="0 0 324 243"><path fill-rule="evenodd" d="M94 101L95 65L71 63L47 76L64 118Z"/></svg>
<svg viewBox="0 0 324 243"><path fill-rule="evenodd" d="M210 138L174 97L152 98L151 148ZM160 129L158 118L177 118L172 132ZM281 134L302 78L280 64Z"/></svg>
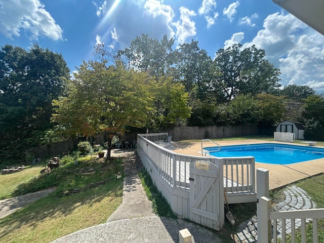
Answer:
<svg viewBox="0 0 324 243"><path fill-rule="evenodd" d="M218 86L213 86L218 68L207 52L198 47L198 42L182 44L176 51L175 82L184 85L189 93L189 104L193 107L188 119L190 126L213 126L218 123L216 101L224 100Z"/></svg>

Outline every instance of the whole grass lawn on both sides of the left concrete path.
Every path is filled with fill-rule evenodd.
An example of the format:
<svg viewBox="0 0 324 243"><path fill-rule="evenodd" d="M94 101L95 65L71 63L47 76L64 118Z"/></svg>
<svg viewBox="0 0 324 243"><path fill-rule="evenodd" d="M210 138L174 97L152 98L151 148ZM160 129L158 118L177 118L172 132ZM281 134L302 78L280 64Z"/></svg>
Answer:
<svg viewBox="0 0 324 243"><path fill-rule="evenodd" d="M93 157L74 158L51 173L41 176L43 167L33 166L23 172L29 175L21 183L19 173L0 175L3 181L10 181L7 192L0 184L1 196L25 194L54 185L57 190L25 208L0 219L0 242L51 242L69 233L106 222L108 217L123 201L123 179L116 179L116 172L123 170L122 159L109 164ZM88 173L90 168L95 170ZM22 175L22 174L20 174ZM5 178L5 179L4 179ZM95 187L91 183L107 182ZM75 188L80 192L64 195Z"/></svg>

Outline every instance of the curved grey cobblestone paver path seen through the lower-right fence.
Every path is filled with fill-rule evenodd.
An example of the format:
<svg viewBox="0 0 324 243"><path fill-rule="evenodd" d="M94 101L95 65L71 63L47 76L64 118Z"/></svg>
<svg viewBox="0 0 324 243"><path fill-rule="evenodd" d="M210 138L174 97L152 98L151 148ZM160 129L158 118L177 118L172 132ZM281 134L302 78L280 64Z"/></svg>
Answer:
<svg viewBox="0 0 324 243"><path fill-rule="evenodd" d="M290 211L290 210L304 210L304 209L314 209L315 204L309 198L306 191L297 187L289 186L284 191L286 199L278 203L273 210L274 211ZM309 222L309 220L306 220ZM286 233L291 233L291 220L286 220ZM296 228L301 227L301 220L296 219ZM278 221L277 235L281 238L282 234L281 220ZM255 243L257 242L257 218L254 216L252 219L242 223L239 226L238 232L235 237L242 243Z"/></svg>

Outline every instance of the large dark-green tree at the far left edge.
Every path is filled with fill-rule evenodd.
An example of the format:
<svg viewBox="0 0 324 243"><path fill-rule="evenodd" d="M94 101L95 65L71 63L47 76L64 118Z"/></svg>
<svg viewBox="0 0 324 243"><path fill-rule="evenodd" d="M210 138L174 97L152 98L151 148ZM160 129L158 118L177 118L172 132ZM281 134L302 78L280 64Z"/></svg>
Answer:
<svg viewBox="0 0 324 243"><path fill-rule="evenodd" d="M0 50L0 153L21 155L51 128L52 99L64 91L69 69L61 54L33 45Z"/></svg>

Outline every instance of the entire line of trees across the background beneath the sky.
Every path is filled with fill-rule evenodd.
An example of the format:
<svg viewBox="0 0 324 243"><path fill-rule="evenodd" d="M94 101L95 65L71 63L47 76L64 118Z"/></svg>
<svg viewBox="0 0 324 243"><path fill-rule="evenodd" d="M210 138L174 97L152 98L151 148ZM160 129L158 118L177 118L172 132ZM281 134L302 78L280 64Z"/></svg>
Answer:
<svg viewBox="0 0 324 243"><path fill-rule="evenodd" d="M0 160L68 138L176 126L301 121L305 137L324 139L324 101L307 86L280 87L280 71L255 46L220 49L198 42L136 37L129 48L95 47L74 77L61 54L33 45L0 50ZM54 109L53 109L54 108Z"/></svg>

